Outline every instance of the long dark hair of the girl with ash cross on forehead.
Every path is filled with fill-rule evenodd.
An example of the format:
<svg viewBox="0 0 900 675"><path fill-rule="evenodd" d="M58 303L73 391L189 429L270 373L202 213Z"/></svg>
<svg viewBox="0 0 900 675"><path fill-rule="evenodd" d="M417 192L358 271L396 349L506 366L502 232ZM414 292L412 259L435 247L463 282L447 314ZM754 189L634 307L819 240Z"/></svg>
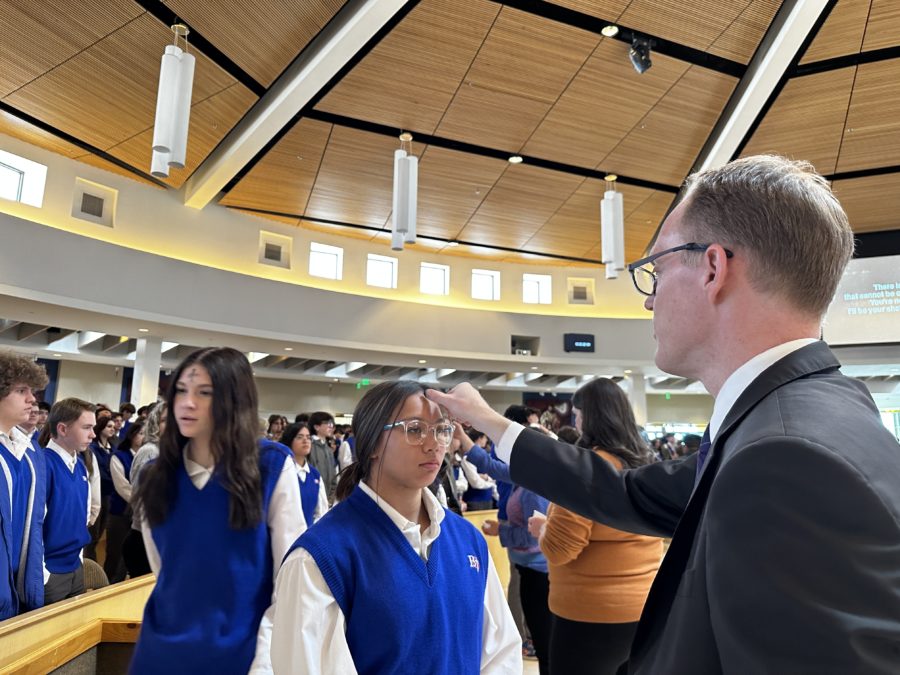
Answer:
<svg viewBox="0 0 900 675"><path fill-rule="evenodd" d="M176 474L188 439L175 419L175 391L181 374L198 365L213 386L213 432L210 448L215 473L228 491L228 524L233 529L262 521L262 478L259 472L259 413L253 370L247 357L230 347L210 347L188 356L172 374L166 393L166 428L159 439L159 458L141 472L135 505L151 526L165 521L176 497Z"/></svg>

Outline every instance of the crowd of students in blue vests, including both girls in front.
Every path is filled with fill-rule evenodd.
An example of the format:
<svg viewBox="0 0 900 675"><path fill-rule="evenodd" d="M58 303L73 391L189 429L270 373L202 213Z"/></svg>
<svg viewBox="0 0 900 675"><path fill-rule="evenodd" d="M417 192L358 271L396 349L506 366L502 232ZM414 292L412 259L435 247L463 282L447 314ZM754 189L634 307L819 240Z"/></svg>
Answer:
<svg viewBox="0 0 900 675"><path fill-rule="evenodd" d="M83 593L105 535L110 582L157 578L133 673L518 673L523 641L542 673L573 672L550 665L550 537L533 529L547 501L421 385L373 387L351 428L327 412L260 420L230 348L189 356L140 410L48 409L46 383L0 354L0 617ZM540 427L524 406L508 414ZM483 529L509 550L509 601L460 517L495 505Z"/></svg>

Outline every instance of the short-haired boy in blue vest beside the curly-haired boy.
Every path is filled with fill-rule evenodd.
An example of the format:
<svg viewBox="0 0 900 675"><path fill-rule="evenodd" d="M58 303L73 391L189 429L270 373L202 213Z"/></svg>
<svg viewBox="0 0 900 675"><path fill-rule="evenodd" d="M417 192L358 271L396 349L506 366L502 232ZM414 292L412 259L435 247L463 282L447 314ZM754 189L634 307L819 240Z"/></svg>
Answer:
<svg viewBox="0 0 900 675"><path fill-rule="evenodd" d="M78 457L94 440L94 406L77 398L57 401L47 425L47 513L44 516L45 604L84 593L82 549L91 541L91 486Z"/></svg>

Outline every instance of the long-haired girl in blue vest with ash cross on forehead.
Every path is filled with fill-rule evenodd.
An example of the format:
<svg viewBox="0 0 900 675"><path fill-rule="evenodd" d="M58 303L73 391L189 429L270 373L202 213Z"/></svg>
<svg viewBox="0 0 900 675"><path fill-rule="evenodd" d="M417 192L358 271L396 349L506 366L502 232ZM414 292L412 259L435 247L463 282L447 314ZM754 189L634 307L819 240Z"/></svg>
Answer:
<svg viewBox="0 0 900 675"><path fill-rule="evenodd" d="M159 457L132 504L157 581L131 672L269 668L273 580L306 528L288 449L258 441L247 357L194 352L172 375Z"/></svg>

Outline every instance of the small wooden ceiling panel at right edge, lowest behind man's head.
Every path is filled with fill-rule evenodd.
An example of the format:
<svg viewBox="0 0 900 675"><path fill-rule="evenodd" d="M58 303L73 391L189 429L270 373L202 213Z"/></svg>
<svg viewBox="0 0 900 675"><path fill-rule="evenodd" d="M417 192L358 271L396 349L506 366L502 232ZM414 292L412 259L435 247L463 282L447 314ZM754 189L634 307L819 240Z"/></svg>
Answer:
<svg viewBox="0 0 900 675"><path fill-rule="evenodd" d="M833 189L854 232L900 227L900 174L835 181Z"/></svg>

